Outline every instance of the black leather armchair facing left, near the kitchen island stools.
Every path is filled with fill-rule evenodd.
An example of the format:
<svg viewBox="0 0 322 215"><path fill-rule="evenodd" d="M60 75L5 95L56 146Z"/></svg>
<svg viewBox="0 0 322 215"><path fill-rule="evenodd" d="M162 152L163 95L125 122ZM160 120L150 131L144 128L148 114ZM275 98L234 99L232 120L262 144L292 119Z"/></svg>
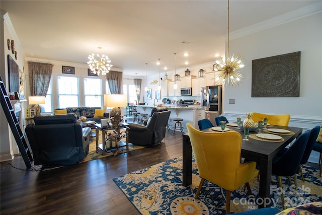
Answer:
<svg viewBox="0 0 322 215"><path fill-rule="evenodd" d="M153 110L154 109L154 110ZM155 145L161 142L166 136L166 126L171 111L167 107L162 109L153 108L152 116L146 125L129 123L129 142L139 146Z"/></svg>

